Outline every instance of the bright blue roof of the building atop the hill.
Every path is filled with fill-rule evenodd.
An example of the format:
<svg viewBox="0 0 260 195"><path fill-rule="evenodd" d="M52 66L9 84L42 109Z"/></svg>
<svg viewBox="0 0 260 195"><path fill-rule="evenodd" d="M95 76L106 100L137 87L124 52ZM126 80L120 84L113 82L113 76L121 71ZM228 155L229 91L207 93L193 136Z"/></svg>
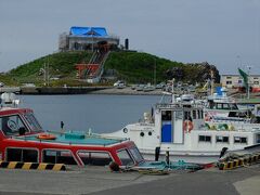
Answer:
<svg viewBox="0 0 260 195"><path fill-rule="evenodd" d="M104 27L70 27L72 36L82 36L82 37L106 37L108 36Z"/></svg>

